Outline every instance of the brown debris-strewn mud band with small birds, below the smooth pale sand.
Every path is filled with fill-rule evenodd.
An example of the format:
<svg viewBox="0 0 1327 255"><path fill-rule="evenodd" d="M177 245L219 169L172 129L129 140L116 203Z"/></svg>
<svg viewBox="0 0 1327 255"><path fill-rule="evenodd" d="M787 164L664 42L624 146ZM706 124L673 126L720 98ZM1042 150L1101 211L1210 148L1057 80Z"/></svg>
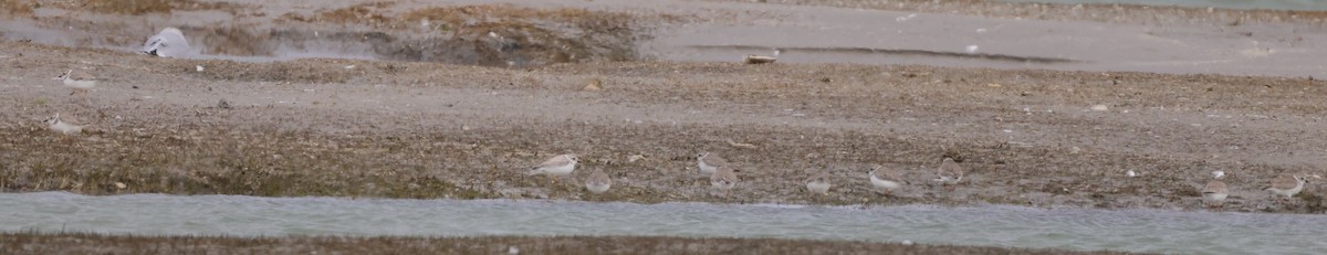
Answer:
<svg viewBox="0 0 1327 255"><path fill-rule="evenodd" d="M7 48L56 60L64 50ZM1304 78L689 62L247 64L74 50L131 62L93 65L123 74L110 76L93 98L68 97L36 78L46 72L7 73L21 80L5 89L12 114L0 129L12 135L4 135L0 187L583 199L573 183L551 186L523 171L576 153L576 179L600 167L620 183L609 199L723 202L694 174L694 154L717 151L750 169L729 202L1200 210L1197 187L1208 171L1223 169L1237 190L1227 210L1322 211L1316 186L1296 205L1275 205L1258 189L1275 174L1316 171L1314 161L1281 153L1320 153L1312 135L1298 135L1320 131L1311 124L1322 106L1307 97L1324 88ZM21 68L7 70L54 73L73 62L9 61ZM210 72L196 73L198 65ZM329 77L344 81L324 84ZM581 90L591 80L605 89ZM1166 92L1143 93L1152 88ZM231 106L218 108L220 100ZM1096 104L1113 110L1088 109ZM88 134L45 130L40 120L57 112L92 124ZM629 162L632 155L645 159ZM970 169L970 182L955 193L929 182L928 167L942 157ZM920 185L876 195L865 185L865 169L876 163ZM800 187L816 173L835 178L828 199Z"/></svg>

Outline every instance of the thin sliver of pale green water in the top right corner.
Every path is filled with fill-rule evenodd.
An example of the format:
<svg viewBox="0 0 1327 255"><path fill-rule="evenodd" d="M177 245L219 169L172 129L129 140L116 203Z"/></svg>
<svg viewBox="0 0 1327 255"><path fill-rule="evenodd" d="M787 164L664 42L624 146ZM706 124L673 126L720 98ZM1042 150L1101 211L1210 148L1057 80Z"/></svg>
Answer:
<svg viewBox="0 0 1327 255"><path fill-rule="evenodd" d="M1323 0L1003 0L1014 3L1055 3L1055 4L1147 4L1176 7L1216 7L1230 9L1292 9L1327 11Z"/></svg>

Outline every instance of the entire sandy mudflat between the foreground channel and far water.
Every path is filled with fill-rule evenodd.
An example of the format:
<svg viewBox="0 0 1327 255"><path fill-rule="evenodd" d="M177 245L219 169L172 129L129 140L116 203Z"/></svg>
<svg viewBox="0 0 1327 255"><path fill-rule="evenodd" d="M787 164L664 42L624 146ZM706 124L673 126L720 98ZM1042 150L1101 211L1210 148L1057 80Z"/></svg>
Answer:
<svg viewBox="0 0 1327 255"><path fill-rule="evenodd" d="M1198 187L1225 170L1229 211L1327 209L1318 185L1291 205L1261 191L1278 174L1327 175L1327 86L1311 77L1327 54L1315 12L1043 5L1062 15L1018 19L1030 5L180 3L9 11L0 190L583 199L576 182L524 175L575 153L573 179L604 169L616 181L606 199L644 203L1201 210ZM1071 11L1085 15L1063 15ZM1152 12L1185 15L1129 19ZM908 13L924 19L902 23L921 25L901 27ZM208 54L397 61L129 52L166 25ZM973 36L977 28L990 36ZM961 54L967 44L982 50ZM779 64L736 62L766 48L792 50ZM719 62L694 61L710 58ZM50 80L68 69L105 81L72 97ZM89 130L45 130L40 121L54 113ZM739 165L731 199L695 174L699 151ZM929 181L943 157L970 170L953 193ZM877 195L865 179L873 165L914 185ZM824 171L832 194L808 195L802 182Z"/></svg>

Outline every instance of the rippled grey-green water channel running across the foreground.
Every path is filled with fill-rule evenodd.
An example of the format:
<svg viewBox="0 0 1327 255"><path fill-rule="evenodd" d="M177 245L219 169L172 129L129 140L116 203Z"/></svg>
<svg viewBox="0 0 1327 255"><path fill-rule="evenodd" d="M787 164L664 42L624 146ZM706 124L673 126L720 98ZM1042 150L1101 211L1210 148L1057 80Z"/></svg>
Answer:
<svg viewBox="0 0 1327 255"><path fill-rule="evenodd" d="M0 231L139 235L667 235L1323 254L1327 215L1028 209L0 194Z"/></svg>

